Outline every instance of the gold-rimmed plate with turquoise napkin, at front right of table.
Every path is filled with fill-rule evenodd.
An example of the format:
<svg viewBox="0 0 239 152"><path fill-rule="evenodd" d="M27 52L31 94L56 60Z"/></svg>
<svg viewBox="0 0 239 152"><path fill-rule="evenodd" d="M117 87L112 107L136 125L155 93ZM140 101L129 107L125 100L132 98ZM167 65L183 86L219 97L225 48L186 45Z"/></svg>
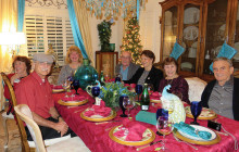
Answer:
<svg viewBox="0 0 239 152"><path fill-rule="evenodd" d="M199 125L175 124L173 132L180 140L194 144L210 145L221 141L218 134Z"/></svg>

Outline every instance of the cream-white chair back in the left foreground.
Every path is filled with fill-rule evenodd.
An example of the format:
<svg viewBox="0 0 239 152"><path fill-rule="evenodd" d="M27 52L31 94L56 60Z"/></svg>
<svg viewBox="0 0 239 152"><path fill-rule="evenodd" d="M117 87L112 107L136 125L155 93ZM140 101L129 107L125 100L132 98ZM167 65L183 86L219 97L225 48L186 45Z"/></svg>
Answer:
<svg viewBox="0 0 239 152"><path fill-rule="evenodd" d="M30 135L34 139L34 142L36 144L37 151L47 152L43 140L42 140L41 131L37 123L34 121L32 111L29 110L28 105L18 104L14 106L14 110L20 116L20 118L26 123L27 128L29 129Z"/></svg>

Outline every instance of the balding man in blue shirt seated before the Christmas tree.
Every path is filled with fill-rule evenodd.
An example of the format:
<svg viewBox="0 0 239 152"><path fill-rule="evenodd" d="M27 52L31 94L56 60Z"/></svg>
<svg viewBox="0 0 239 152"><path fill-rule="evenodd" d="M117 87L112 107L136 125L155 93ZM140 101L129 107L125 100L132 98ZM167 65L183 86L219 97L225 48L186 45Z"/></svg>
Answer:
<svg viewBox="0 0 239 152"><path fill-rule="evenodd" d="M139 65L131 63L131 53L128 51L122 52L121 60L122 63L115 66L115 74L121 74L122 80L128 80L134 76Z"/></svg>

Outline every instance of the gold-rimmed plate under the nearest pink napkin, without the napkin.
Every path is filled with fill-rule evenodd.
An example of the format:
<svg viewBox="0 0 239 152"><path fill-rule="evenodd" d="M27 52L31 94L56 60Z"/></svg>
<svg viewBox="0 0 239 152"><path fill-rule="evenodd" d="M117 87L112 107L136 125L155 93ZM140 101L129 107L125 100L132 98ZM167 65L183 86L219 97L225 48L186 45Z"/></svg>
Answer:
<svg viewBox="0 0 239 152"><path fill-rule="evenodd" d="M112 128L111 131L109 132L110 138L120 144L143 145L143 144L151 143L155 139L155 134L151 129L147 128L146 131L142 134L142 139L140 141L126 141L125 140L126 136L121 137L121 138L114 136L114 132L118 131L120 127L122 127L122 125Z"/></svg>

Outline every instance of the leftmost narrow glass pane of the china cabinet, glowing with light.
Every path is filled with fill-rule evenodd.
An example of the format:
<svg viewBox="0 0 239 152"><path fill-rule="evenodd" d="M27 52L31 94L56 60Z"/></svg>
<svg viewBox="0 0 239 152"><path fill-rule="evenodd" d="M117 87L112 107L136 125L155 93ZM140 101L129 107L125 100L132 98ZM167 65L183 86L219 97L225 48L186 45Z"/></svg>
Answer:
<svg viewBox="0 0 239 152"><path fill-rule="evenodd" d="M177 7L172 7L164 12L164 25L163 25L163 60L169 56L177 36Z"/></svg>

